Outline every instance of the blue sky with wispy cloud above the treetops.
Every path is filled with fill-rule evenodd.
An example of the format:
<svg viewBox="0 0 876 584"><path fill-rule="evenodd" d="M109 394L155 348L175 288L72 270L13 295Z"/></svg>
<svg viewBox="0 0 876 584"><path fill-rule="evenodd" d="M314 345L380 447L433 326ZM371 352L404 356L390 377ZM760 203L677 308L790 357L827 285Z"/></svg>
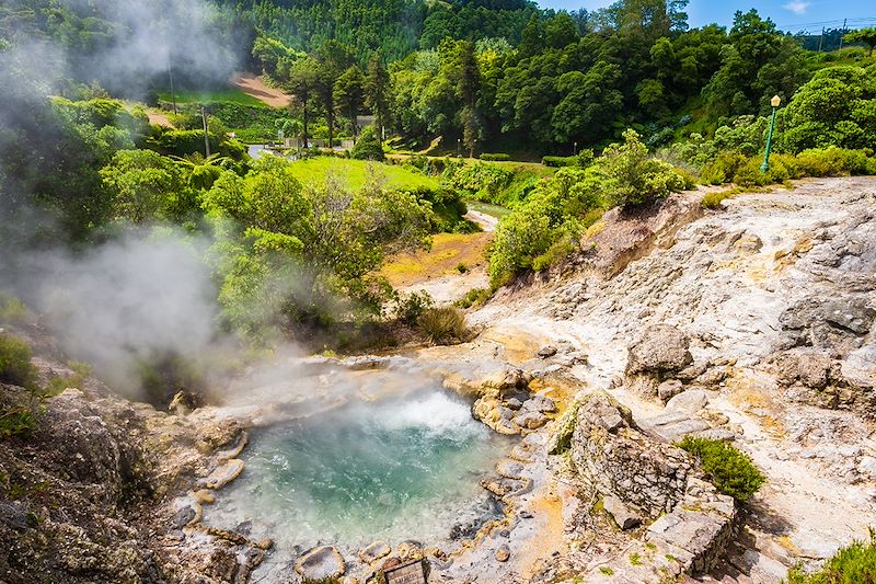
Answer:
<svg viewBox="0 0 876 584"><path fill-rule="evenodd" d="M545 8L593 10L611 3L606 0L537 0ZM849 19L850 27L876 26L876 2L874 0L691 0L688 4L689 23L702 26L711 22L729 26L737 10L744 12L757 8L761 15L770 16L782 28L797 32L820 31L841 27ZM869 20L865 20L869 19ZM832 21L838 21L834 24Z"/></svg>

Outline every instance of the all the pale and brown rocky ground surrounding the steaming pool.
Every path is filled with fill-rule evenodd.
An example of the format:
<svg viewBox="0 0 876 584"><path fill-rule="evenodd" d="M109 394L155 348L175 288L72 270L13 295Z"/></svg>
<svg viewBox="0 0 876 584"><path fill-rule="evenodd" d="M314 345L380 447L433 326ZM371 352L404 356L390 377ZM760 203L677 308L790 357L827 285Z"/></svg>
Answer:
<svg viewBox="0 0 876 584"><path fill-rule="evenodd" d="M522 439L482 483L506 516L465 528L457 549L319 548L284 580L353 583L424 556L430 582L447 584L775 583L817 565L876 517L876 180L803 181L708 211L701 197L609 213L574 262L471 310L469 343L291 358L280 377L312 376L315 405L277 402L276 375L181 415L94 379L65 391L31 439L0 450L0 581L247 581L272 541L203 525L203 505L241 472L243 427L333 406L350 377L326 367L397 371L366 383L378 393L413 369L437 376ZM38 330L13 332L43 377L64 373ZM762 469L747 506L672 446L689 434L733 442Z"/></svg>

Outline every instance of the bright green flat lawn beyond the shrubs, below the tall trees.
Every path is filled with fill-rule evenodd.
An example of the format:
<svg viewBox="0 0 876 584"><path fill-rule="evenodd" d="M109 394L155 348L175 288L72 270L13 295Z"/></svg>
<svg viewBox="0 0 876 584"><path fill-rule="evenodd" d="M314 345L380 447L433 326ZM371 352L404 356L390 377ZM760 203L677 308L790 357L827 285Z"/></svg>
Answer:
<svg viewBox="0 0 876 584"><path fill-rule="evenodd" d="M292 171L302 183L319 183L326 176L334 175L353 190L365 186L372 179L385 181L388 186L395 188L438 188L440 186L438 179L426 176L404 167L345 158L309 158L292 163Z"/></svg>

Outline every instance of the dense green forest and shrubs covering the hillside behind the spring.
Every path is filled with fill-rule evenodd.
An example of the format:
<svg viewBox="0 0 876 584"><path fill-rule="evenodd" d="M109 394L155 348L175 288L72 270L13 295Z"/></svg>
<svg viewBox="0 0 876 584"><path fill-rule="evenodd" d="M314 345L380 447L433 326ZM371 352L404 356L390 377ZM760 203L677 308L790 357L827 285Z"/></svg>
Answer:
<svg viewBox="0 0 876 584"><path fill-rule="evenodd" d="M512 210L491 248L495 288L562 263L614 206L698 182L873 172L872 31L812 51L756 10L689 28L685 5L15 0L0 9L3 242L94 244L157 221L206 236L226 325L261 342L403 301L376 271L430 233L471 229L463 199ZM246 67L290 107L218 102L201 117L189 104L149 123L169 83L221 89ZM361 114L376 124L359 133ZM405 179L307 184L298 162L253 160L237 139L277 130L303 144L293 158L391 152ZM307 148L338 136L355 148ZM433 156L414 154L424 147ZM295 289L289 262L307 266Z"/></svg>

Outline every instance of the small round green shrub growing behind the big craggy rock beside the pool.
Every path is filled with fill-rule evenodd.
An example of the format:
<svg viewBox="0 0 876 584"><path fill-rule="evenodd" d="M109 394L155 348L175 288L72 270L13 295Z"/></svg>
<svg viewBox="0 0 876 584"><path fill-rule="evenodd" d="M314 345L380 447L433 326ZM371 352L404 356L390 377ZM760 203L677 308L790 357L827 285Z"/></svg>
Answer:
<svg viewBox="0 0 876 584"><path fill-rule="evenodd" d="M721 440L685 436L678 444L695 457L718 491L745 503L766 481L751 459Z"/></svg>

